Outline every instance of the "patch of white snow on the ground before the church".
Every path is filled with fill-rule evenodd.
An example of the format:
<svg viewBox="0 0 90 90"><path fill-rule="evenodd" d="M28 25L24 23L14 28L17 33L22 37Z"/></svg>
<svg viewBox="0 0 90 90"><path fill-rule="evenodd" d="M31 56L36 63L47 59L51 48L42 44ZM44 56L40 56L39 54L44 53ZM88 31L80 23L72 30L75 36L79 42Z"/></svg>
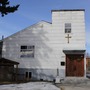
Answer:
<svg viewBox="0 0 90 90"><path fill-rule="evenodd" d="M0 85L0 90L60 90L48 82L29 82L23 84Z"/></svg>

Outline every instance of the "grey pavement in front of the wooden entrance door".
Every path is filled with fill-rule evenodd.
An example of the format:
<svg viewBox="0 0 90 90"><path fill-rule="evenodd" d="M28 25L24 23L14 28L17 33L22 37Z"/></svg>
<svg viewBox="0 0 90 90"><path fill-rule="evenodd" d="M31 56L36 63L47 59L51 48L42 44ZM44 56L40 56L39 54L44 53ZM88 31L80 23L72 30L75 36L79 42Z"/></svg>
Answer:
<svg viewBox="0 0 90 90"><path fill-rule="evenodd" d="M56 86L61 90L90 90L90 79L67 78Z"/></svg>

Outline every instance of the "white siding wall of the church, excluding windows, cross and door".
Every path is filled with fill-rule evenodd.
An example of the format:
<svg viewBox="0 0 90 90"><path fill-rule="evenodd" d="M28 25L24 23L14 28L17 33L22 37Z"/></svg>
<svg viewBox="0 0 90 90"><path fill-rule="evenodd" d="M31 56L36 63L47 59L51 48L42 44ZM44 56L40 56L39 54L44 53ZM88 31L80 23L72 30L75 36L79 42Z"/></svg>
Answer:
<svg viewBox="0 0 90 90"><path fill-rule="evenodd" d="M72 26L70 43L65 38L65 23ZM21 45L35 45L35 57L20 58ZM52 24L42 21L6 38L3 57L19 62L19 68L58 68L65 72L65 66L60 65L65 61L63 49L72 48L85 49L84 11L53 11ZM65 73L60 75L65 76Z"/></svg>

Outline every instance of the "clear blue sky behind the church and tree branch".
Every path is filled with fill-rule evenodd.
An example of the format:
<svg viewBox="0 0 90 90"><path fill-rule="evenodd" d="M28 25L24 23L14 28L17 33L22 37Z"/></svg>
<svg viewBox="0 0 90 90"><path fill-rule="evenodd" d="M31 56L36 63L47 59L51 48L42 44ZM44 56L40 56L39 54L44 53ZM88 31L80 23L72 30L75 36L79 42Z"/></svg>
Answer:
<svg viewBox="0 0 90 90"><path fill-rule="evenodd" d="M0 16L0 38L7 37L41 20L51 22L53 9L85 9L86 48L90 53L90 0L9 0L20 4L18 11Z"/></svg>

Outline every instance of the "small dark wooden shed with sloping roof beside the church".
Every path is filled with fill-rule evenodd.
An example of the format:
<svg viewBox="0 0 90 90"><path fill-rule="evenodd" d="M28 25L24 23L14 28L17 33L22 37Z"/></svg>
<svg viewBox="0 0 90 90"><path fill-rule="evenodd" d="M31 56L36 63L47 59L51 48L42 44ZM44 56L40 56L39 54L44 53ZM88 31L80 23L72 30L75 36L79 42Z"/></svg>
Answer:
<svg viewBox="0 0 90 90"><path fill-rule="evenodd" d="M16 81L18 79L18 62L0 58L0 81ZM16 68L14 68L16 66Z"/></svg>

